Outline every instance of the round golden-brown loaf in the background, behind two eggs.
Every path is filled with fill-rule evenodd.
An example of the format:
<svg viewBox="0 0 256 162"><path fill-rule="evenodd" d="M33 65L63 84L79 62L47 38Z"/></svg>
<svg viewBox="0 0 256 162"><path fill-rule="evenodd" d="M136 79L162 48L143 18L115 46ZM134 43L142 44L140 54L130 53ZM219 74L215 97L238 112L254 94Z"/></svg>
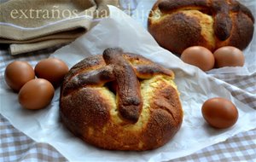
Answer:
<svg viewBox="0 0 256 162"><path fill-rule="evenodd" d="M253 24L251 11L236 0L158 0L148 17L148 31L175 54L195 45L245 49Z"/></svg>

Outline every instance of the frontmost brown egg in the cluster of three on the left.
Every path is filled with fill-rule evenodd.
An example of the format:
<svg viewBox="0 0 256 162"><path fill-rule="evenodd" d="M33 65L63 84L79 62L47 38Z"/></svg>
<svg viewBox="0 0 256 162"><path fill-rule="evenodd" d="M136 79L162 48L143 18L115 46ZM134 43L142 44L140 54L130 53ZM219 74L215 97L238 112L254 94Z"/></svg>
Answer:
<svg viewBox="0 0 256 162"><path fill-rule="evenodd" d="M48 80L37 78L27 82L19 93L20 105L26 109L41 109L49 105L55 89Z"/></svg>

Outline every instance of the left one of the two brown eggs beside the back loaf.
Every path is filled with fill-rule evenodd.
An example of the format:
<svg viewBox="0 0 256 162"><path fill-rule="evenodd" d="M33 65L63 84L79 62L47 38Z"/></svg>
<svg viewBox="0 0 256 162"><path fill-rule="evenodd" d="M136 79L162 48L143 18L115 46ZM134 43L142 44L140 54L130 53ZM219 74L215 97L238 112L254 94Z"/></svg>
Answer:
<svg viewBox="0 0 256 162"><path fill-rule="evenodd" d="M192 46L185 49L181 55L181 60L201 68L202 71L208 71L214 67L212 52L201 46Z"/></svg>

